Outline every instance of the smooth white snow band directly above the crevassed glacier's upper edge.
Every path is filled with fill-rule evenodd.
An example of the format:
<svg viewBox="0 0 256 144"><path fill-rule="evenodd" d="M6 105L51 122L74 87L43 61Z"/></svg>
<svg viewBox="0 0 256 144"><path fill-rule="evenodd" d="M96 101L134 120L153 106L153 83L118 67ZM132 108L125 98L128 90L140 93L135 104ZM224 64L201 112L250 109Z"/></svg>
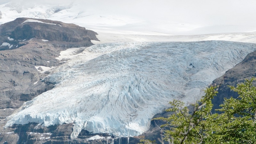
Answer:
<svg viewBox="0 0 256 144"><path fill-rule="evenodd" d="M256 33L221 33L192 36L156 36L156 35L136 35L136 34L112 34L97 32L100 41L92 40L93 44L116 43L116 42L192 42L192 41L235 41L256 43Z"/></svg>

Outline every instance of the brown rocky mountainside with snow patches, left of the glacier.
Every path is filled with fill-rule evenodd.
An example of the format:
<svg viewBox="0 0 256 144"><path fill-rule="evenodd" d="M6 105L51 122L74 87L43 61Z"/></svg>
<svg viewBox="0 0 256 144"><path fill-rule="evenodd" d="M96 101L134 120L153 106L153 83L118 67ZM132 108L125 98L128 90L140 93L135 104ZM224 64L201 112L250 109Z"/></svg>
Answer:
<svg viewBox="0 0 256 144"><path fill-rule="evenodd" d="M28 22L24 22L26 20ZM49 73L41 70L65 62L55 59L61 51L91 46L91 40L98 40L96 35L96 32L75 24L42 19L18 18L0 26L0 143L24 143L24 131L32 126L14 126L4 130L5 118L23 102L54 87L54 84L42 80ZM18 129L19 134L16 133ZM39 139L28 134L26 136L32 141L27 143Z"/></svg>

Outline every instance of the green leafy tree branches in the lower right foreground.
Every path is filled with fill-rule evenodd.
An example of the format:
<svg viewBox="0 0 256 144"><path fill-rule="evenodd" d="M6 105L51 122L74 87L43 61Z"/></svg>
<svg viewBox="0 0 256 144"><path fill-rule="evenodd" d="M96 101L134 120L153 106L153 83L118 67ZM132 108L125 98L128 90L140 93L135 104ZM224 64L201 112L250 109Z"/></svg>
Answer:
<svg viewBox="0 0 256 144"><path fill-rule="evenodd" d="M164 140L169 144L256 143L256 87L253 86L255 80L256 78L246 79L244 83L237 84L237 87L230 86L239 97L224 99L218 109L222 114L211 113L211 99L216 96L216 87L206 88L205 95L193 105L192 112L189 112L183 102L173 100L170 102L171 108L166 110L173 114L168 118L153 119L165 122L161 126L164 138L158 140L162 144ZM147 140L144 142L154 143Z"/></svg>

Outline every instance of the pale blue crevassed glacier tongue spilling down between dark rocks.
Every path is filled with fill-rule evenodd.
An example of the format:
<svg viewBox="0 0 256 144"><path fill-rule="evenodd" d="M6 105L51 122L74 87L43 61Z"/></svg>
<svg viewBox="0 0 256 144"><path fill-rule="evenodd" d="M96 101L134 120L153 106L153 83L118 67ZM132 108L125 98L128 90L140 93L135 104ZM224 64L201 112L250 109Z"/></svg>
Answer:
<svg viewBox="0 0 256 144"><path fill-rule="evenodd" d="M255 44L227 41L93 45L53 69L45 80L55 88L24 103L5 126L74 122L71 138L82 129L139 135L169 101L196 101L254 50Z"/></svg>

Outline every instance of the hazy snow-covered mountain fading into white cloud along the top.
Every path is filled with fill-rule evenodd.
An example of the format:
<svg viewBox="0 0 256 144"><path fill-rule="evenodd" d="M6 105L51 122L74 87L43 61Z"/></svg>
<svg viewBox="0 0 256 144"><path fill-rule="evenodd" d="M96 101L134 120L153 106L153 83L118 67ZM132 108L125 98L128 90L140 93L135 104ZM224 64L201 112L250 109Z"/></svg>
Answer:
<svg viewBox="0 0 256 144"><path fill-rule="evenodd" d="M28 17L75 23L97 33L197 35L256 30L254 0L1 0L0 4L0 24Z"/></svg>

